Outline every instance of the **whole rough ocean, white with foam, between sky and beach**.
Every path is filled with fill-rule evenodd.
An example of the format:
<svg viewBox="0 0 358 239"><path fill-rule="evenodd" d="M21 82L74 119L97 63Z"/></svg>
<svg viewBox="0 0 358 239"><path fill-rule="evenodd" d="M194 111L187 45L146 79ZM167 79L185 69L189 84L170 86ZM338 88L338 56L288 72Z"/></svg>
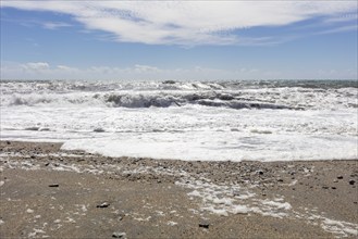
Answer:
<svg viewBox="0 0 358 239"><path fill-rule="evenodd" d="M357 80L1 80L1 140L108 156L358 159Z"/></svg>

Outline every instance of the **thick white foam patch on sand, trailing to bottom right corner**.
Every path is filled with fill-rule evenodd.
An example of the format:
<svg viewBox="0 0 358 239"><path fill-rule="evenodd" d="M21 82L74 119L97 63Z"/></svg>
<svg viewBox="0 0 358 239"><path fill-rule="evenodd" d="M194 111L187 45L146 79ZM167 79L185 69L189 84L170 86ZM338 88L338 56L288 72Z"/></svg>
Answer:
<svg viewBox="0 0 358 239"><path fill-rule="evenodd" d="M358 235L357 224L329 218L324 216L324 212L318 214L316 209L294 209L283 197L262 200L247 188L240 188L236 185L221 186L188 177L182 178L176 185L193 190L188 196L193 199L199 199L201 212L209 212L219 216L230 216L231 214L260 214L262 216L277 218L300 219L307 224L319 225L325 231L337 237ZM235 197L236 193L233 193L233 191L250 197L237 199L237 197ZM199 213L194 210L189 211L195 214Z"/></svg>

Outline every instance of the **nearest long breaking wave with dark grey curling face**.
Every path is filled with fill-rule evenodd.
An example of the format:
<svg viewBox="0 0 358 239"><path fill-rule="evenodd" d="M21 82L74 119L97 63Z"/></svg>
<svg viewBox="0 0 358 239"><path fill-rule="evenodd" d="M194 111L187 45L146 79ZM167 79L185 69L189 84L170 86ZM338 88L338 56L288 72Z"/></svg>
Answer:
<svg viewBox="0 0 358 239"><path fill-rule="evenodd" d="M303 106L270 103L262 100L244 99L227 93L95 93L95 95L25 95L1 100L2 105L102 105L113 108L169 108L203 105L230 109L288 109Z"/></svg>

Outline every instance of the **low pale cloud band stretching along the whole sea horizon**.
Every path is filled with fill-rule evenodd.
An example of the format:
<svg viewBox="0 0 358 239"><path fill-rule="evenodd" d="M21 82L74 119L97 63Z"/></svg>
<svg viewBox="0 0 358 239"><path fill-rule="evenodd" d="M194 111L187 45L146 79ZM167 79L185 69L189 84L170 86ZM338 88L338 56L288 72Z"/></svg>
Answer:
<svg viewBox="0 0 358 239"><path fill-rule="evenodd" d="M2 79L173 79L173 80L215 80L215 79L272 79L272 78L357 78L356 68L288 72L238 66L235 70L193 66L188 68L160 68L152 65L135 64L129 67L91 66L73 67L50 65L46 62L1 62Z"/></svg>

